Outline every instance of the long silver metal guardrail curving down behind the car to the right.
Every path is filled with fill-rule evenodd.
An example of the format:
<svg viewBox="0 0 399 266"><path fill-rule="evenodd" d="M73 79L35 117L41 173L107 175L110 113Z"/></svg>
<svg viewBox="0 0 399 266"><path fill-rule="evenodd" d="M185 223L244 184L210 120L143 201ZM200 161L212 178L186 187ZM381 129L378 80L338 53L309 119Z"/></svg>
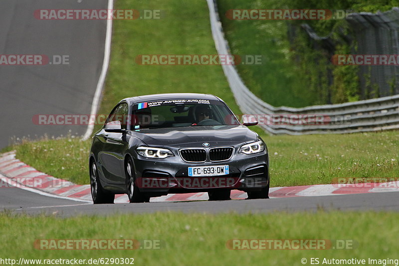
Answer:
<svg viewBox="0 0 399 266"><path fill-rule="evenodd" d="M207 0L213 40L219 55L231 54L213 0ZM274 107L256 97L243 83L234 65L222 65L235 101L246 114L271 117L323 116L320 124L259 123L269 134L324 134L378 131L399 128L399 95L303 108Z"/></svg>

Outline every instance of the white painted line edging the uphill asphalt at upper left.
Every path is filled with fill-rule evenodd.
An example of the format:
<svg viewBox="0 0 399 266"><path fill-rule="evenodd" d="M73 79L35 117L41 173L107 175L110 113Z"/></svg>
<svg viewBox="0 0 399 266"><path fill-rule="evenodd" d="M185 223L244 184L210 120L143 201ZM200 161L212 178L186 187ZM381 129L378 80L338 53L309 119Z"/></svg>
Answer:
<svg viewBox="0 0 399 266"><path fill-rule="evenodd" d="M114 8L114 0L108 0L108 10ZM112 39L112 19L107 19L107 32L105 33L105 49L104 49L104 61L103 68L101 70L100 78L98 79L96 92L94 93L93 103L91 104L90 115L94 116L97 114L98 105L100 102L101 93L104 87L105 77L108 71L109 58L111 54L111 39ZM93 132L94 124L89 123L87 126L86 133L82 136L82 140L90 138Z"/></svg>

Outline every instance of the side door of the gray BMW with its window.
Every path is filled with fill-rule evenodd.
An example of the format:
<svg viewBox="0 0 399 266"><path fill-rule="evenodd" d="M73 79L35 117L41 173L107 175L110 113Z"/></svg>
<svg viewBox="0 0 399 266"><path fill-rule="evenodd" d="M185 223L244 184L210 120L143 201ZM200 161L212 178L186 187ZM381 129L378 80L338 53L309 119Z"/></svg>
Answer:
<svg viewBox="0 0 399 266"><path fill-rule="evenodd" d="M127 128L128 104L119 104L109 115L106 123L120 121L123 129ZM102 139L103 148L99 153L102 171L111 184L125 183L124 154L127 147L126 133L106 132L98 135Z"/></svg>

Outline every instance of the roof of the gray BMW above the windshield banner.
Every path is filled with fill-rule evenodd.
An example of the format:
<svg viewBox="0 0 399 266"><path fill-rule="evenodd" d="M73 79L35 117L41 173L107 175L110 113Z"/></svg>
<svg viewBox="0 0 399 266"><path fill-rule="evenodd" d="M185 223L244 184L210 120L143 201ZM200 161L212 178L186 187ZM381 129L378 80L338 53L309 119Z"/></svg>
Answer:
<svg viewBox="0 0 399 266"><path fill-rule="evenodd" d="M197 99L197 100L218 100L220 99L212 94L204 93L162 93L162 94L150 94L136 97L125 98L122 101L127 101L131 104L139 102L152 102L159 100L182 100L182 99Z"/></svg>

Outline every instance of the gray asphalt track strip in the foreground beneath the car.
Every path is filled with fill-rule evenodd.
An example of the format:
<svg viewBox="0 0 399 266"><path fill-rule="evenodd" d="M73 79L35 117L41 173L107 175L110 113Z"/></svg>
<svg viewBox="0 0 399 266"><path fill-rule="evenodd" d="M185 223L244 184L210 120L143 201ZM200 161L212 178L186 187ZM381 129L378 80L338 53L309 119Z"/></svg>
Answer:
<svg viewBox="0 0 399 266"><path fill-rule="evenodd" d="M0 208L29 215L113 215L165 211L200 213L269 213L276 211L399 211L398 192L289 197L260 200L154 202L93 205L89 202L52 198L17 188L0 189Z"/></svg>

